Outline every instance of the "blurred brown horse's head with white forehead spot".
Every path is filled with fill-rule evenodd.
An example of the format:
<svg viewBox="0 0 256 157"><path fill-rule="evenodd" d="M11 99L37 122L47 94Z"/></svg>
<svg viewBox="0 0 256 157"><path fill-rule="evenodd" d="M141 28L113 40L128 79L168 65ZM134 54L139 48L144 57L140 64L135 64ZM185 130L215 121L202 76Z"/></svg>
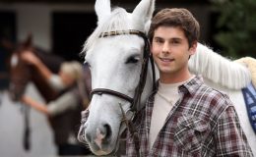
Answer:
<svg viewBox="0 0 256 157"><path fill-rule="evenodd" d="M26 85L31 78L31 72L28 63L21 59L22 53L31 51L32 37L19 45L12 53L10 60L10 88L9 93L12 100L17 101L24 94Z"/></svg>

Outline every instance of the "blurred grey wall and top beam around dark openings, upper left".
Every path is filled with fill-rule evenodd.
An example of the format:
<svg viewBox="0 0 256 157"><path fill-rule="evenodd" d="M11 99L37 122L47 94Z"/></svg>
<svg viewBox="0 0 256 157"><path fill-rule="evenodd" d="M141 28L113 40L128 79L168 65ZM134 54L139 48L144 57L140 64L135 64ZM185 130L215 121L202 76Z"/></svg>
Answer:
<svg viewBox="0 0 256 157"><path fill-rule="evenodd" d="M45 50L51 50L51 13L94 12L93 5L54 4L1 4L1 11L12 11L17 15L17 39L23 41L32 33L33 43ZM89 22L90 23L90 22Z"/></svg>

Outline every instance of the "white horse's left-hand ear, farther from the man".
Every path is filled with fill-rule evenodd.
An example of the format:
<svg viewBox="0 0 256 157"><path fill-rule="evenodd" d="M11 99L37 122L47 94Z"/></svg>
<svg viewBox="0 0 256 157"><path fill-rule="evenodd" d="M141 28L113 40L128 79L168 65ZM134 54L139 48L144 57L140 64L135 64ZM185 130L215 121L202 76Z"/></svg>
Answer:
<svg viewBox="0 0 256 157"><path fill-rule="evenodd" d="M110 0L96 0L97 25L102 23L111 14Z"/></svg>

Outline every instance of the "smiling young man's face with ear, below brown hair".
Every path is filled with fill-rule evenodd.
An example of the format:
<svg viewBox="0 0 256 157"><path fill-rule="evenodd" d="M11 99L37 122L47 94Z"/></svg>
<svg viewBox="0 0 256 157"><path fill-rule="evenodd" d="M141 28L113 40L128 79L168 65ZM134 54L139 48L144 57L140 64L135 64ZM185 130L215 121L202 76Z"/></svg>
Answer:
<svg viewBox="0 0 256 157"><path fill-rule="evenodd" d="M189 56L196 44L189 48L188 39L180 27L160 26L155 30L152 53L160 70L160 78L187 75Z"/></svg>

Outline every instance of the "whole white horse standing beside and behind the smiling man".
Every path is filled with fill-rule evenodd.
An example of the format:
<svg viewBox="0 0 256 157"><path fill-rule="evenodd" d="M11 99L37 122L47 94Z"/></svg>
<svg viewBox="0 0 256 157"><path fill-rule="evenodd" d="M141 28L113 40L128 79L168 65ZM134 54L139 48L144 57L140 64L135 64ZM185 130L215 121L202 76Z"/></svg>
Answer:
<svg viewBox="0 0 256 157"><path fill-rule="evenodd" d="M109 89L133 97L142 69L144 39L127 31L113 36L110 31L136 29L146 33L149 28L147 24L155 9L155 0L142 0L132 13L127 13L122 8L111 11L109 0L96 0L95 7L97 27L84 47L85 60L91 67L92 89ZM189 67L193 73L201 74L210 86L229 94L249 143L255 148L256 136L246 116L240 90L250 82L247 69L228 61L201 44L196 55L190 59ZM139 108L145 105L152 91L155 80L151 74L149 65ZM82 133L96 155L113 153L118 145L123 119L120 106L124 111L128 111L131 103L120 95L115 96L107 92L96 92L93 95L89 107L90 115L88 121L82 124Z"/></svg>

